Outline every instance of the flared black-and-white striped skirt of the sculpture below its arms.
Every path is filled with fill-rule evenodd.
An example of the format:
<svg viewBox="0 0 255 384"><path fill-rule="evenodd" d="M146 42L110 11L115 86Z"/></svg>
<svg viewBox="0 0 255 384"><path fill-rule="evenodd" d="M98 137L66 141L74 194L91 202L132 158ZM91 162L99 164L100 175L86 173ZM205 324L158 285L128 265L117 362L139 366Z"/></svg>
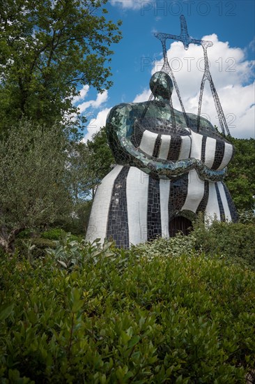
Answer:
<svg viewBox="0 0 255 384"><path fill-rule="evenodd" d="M138 168L116 165L95 193L86 239L113 239L128 249L155 237L171 237L178 229L187 233L199 212L209 220L238 219L225 184L203 181L196 170L178 179L156 180Z"/></svg>

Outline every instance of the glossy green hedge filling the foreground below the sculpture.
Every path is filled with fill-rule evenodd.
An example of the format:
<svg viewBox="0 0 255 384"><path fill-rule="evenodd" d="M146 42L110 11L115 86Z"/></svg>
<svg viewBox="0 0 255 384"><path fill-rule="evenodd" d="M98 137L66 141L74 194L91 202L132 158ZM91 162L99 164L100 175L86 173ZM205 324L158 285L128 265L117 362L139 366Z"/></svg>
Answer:
<svg viewBox="0 0 255 384"><path fill-rule="evenodd" d="M147 256L67 239L36 269L2 258L1 383L245 383L255 272L193 251Z"/></svg>

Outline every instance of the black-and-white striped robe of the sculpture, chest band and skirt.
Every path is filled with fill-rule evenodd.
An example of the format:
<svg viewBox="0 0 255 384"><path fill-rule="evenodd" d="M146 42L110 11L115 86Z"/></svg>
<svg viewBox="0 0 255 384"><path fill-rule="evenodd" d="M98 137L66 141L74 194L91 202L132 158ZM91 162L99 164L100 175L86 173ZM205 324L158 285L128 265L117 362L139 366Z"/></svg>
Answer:
<svg viewBox="0 0 255 384"><path fill-rule="evenodd" d="M144 130L135 139L137 149L161 161L195 158L209 170L226 168L233 156L229 142L186 131L164 135ZM160 179L134 166L116 165L98 186L86 239L114 239L117 246L128 248L158 236L169 237L171 219L194 218L199 212L209 219L237 220L224 182L202 179L195 167L178 177Z"/></svg>

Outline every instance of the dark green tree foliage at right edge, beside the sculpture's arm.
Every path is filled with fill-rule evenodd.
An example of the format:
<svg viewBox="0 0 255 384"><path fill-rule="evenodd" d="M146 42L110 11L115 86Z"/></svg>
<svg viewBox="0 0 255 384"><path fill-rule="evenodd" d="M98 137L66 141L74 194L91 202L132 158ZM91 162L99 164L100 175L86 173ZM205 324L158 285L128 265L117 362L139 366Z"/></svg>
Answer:
<svg viewBox="0 0 255 384"><path fill-rule="evenodd" d="M255 208L255 139L228 138L235 146L235 156L229 163L226 185L237 209Z"/></svg>

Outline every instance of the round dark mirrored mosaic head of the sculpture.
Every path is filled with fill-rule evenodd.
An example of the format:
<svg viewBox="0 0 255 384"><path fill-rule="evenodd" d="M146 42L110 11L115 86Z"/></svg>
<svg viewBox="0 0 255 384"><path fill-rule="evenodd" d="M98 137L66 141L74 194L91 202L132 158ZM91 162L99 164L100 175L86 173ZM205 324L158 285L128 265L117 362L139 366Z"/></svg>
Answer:
<svg viewBox="0 0 255 384"><path fill-rule="evenodd" d="M150 78L150 91L155 98L170 100L173 93L173 82L165 72L156 72Z"/></svg>

